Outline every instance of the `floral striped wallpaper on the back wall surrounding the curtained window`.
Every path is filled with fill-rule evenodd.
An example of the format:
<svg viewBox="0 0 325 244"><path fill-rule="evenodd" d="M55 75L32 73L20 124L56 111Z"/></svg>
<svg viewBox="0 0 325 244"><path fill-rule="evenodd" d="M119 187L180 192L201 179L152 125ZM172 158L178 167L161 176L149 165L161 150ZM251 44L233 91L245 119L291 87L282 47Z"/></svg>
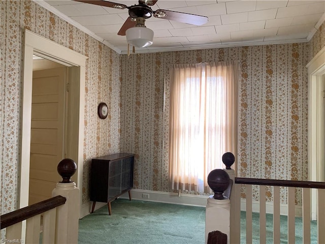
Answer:
<svg viewBox="0 0 325 244"><path fill-rule="evenodd" d="M306 180L308 53L301 43L123 55L121 149L137 154L135 187L170 191L171 64L217 61L240 63L238 176Z"/></svg>

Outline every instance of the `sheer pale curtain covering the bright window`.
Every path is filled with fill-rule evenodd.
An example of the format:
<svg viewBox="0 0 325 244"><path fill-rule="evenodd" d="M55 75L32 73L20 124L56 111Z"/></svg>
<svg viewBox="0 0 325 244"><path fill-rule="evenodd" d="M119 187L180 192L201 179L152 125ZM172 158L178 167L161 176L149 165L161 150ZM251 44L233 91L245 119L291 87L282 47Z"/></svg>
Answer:
<svg viewBox="0 0 325 244"><path fill-rule="evenodd" d="M209 193L207 177L237 156L237 64L174 65L169 177L172 189Z"/></svg>

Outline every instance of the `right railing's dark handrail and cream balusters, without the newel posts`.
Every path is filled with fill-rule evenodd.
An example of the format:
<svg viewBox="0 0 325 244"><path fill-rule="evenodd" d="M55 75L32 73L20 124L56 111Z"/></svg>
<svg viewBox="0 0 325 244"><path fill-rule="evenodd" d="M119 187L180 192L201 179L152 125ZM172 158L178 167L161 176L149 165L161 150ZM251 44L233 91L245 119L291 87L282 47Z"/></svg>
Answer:
<svg viewBox="0 0 325 244"><path fill-rule="evenodd" d="M242 188L245 185L245 188ZM280 188L287 188L287 243L295 243L296 238L296 189L302 188L303 243L310 243L310 191L317 189L317 243L325 243L325 182L235 178L235 197L231 204L241 202L241 191L246 189L246 243L252 243L252 185L259 186L259 242L266 243L266 187L273 188L273 242L280 242ZM272 191L269 189L269 191ZM231 228L236 235L231 243L240 243L240 207L235 207L235 221Z"/></svg>

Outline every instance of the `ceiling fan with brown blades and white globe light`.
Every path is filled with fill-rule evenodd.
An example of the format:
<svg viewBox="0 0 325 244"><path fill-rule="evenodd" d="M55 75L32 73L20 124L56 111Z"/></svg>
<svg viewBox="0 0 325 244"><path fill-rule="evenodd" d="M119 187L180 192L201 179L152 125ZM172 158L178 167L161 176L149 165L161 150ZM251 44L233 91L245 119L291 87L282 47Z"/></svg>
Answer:
<svg viewBox="0 0 325 244"><path fill-rule="evenodd" d="M105 0L74 1L115 9L128 9L129 17L126 19L117 35L126 36L127 43L137 47L146 47L152 44L153 31L146 28L144 24L145 20L152 16L155 18L174 20L194 25L202 25L208 22L208 17L206 16L164 9L153 11L150 6L155 5L158 0L139 0L139 3L133 6L126 6L124 4L108 2Z"/></svg>

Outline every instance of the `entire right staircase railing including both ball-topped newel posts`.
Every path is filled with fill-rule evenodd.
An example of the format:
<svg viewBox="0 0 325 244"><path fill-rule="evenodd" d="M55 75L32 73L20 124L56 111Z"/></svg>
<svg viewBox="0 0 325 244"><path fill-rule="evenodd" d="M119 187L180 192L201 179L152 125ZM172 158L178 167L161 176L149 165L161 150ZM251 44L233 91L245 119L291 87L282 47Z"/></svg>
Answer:
<svg viewBox="0 0 325 244"><path fill-rule="evenodd" d="M231 168L235 162L232 153L225 153L222 162L226 168L212 170L208 176L208 184L214 191L214 196L210 196L207 201L206 243L209 243L210 234L213 237L217 231L226 235L220 243L238 244L241 239L243 243L252 243L253 210L259 215L259 243L270 243L271 238L267 241L267 224L270 230L267 213L273 214L273 243L295 243L296 204L302 205L302 242L311 243L311 200L315 201L311 199L311 191L317 192L317 243L325 243L325 182L239 178L235 177L235 171ZM222 171L228 173L229 177L222 176ZM230 184L228 188L226 181ZM301 200L300 195L299 200L296 200L298 191L302 192ZM267 197L270 193L272 197ZM273 201L267 202L267 198ZM246 236L241 236L241 211L246 212L246 223L242 223L246 226ZM287 240L283 240L283 236L281 238L281 215L287 216ZM243 232L242 234L244 235Z"/></svg>

